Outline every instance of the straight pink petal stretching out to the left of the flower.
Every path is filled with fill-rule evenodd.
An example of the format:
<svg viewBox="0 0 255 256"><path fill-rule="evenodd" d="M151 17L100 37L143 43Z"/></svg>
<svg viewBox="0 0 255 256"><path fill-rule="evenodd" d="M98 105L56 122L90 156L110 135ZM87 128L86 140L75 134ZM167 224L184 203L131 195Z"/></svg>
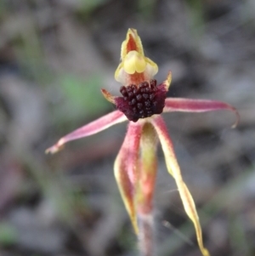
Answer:
<svg viewBox="0 0 255 256"><path fill-rule="evenodd" d="M48 150L46 150L46 153L54 154L55 152L59 151L62 145L64 145L68 141L97 134L116 123L124 121L127 121L127 118L121 111L112 111L111 113L103 117L99 117L99 119L93 122L89 122L88 124L82 126L82 128L77 128L77 130L71 132L71 134L65 135L63 138L59 139L59 141L55 145L48 148Z"/></svg>

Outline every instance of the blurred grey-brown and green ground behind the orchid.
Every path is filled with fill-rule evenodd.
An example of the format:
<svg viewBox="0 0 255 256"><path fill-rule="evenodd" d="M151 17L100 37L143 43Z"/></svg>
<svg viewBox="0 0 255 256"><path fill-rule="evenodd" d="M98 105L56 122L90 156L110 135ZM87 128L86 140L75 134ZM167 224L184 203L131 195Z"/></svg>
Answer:
<svg viewBox="0 0 255 256"><path fill-rule="evenodd" d="M212 255L255 255L254 0L0 0L0 255L138 255L113 177L126 123L54 156L61 136L115 108L127 28L168 96L229 111L165 115ZM161 149L157 255L201 255Z"/></svg>

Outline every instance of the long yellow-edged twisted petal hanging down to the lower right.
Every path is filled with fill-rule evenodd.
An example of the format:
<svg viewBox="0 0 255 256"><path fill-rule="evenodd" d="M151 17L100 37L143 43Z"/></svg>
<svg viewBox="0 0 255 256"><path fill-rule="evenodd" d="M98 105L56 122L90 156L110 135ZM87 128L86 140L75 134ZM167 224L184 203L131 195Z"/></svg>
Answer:
<svg viewBox="0 0 255 256"><path fill-rule="evenodd" d="M152 118L151 123L154 125L156 133L158 134L158 137L160 139L162 150L165 156L165 161L167 164L168 173L171 174L175 179L176 185L178 186L179 195L184 204L185 212L187 213L187 215L192 220L195 226L196 239L201 249L201 253L203 254L203 256L209 256L210 254L207 251L207 248L205 248L203 245L201 225L195 209L195 202L190 194L187 185L184 183L184 180L182 178L177 158L173 151L172 140L167 134L166 124L163 121L162 117L160 116Z"/></svg>

